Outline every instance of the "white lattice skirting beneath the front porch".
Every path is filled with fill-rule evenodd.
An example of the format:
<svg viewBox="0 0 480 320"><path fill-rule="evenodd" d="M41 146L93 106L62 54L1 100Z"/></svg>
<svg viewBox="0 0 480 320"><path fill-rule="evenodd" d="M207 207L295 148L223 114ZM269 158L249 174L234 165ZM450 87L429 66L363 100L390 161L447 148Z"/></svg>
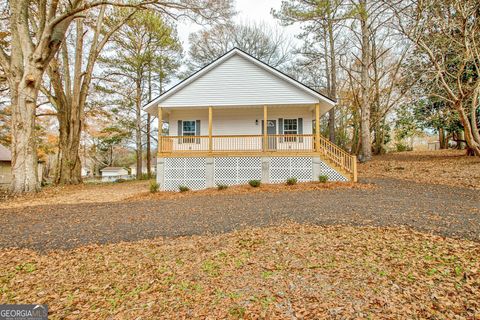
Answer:
<svg viewBox="0 0 480 320"><path fill-rule="evenodd" d="M325 175L329 181L348 181L318 157L218 157L165 158L157 160L157 181L162 190L192 190L218 184L238 185L249 180L284 183L288 178L316 181Z"/></svg>

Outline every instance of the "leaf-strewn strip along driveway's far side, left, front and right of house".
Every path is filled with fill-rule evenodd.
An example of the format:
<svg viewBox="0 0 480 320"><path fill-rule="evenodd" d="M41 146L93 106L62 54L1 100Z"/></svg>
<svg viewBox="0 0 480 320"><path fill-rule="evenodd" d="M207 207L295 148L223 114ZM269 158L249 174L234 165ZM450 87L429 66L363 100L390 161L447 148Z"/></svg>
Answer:
<svg viewBox="0 0 480 320"><path fill-rule="evenodd" d="M359 164L360 179L393 178L427 184L442 184L480 189L480 159L465 156L464 151L442 150L422 152L400 152L374 157L366 164ZM124 183L85 184L66 187L46 187L37 195L19 198L0 198L0 209L21 208L27 206L106 203L147 199L180 199L191 195L208 195L212 190L179 194L178 192L160 192L151 195L148 181L128 181ZM369 188L365 184L328 183L300 184L286 188L284 185L271 185L261 191L302 191L332 188ZM238 186L225 190L226 194L245 194L258 192L248 186ZM215 192L213 192L215 193ZM212 194L214 195L214 194Z"/></svg>

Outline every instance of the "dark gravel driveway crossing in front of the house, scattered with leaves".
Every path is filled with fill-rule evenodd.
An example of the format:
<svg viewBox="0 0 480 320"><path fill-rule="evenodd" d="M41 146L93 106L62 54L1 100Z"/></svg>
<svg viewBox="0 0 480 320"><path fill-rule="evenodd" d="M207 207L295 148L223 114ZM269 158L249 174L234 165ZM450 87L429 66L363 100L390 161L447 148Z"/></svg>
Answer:
<svg viewBox="0 0 480 320"><path fill-rule="evenodd" d="M408 226L480 241L480 192L372 179L373 189L251 193L0 210L0 247L39 251L228 232L282 221Z"/></svg>

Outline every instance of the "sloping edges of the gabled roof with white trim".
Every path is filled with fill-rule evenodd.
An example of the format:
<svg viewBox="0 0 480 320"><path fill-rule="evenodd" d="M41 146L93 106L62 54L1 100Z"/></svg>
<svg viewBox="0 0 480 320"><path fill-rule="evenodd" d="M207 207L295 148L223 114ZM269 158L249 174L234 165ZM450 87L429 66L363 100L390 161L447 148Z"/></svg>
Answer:
<svg viewBox="0 0 480 320"><path fill-rule="evenodd" d="M331 99L331 98L313 90L312 88L310 88L310 87L306 86L305 84L291 78L290 76L288 76L288 75L284 74L283 72L273 68L272 66L258 60L257 58L251 56L250 54L248 54L248 53L246 53L246 52L244 52L244 51L242 51L238 48L233 48L232 50L228 51L227 53L225 53L221 57L212 61L210 64L208 64L205 67L203 67L202 69L198 70L197 72L195 72L194 74L192 74L191 76L186 78L185 80L179 82L178 84L176 84L175 86L173 86L172 88L170 88L169 90L167 90L166 92L164 92L163 94L158 96L157 98L148 102L144 106L144 109L146 111L153 111L151 109L152 107L154 107L158 104L161 104L163 101L165 101L169 97L175 95L175 93L179 92L181 89L188 86L190 83L199 79L200 77L207 74L211 70L215 69L217 66L223 64L225 61L227 61L228 59L230 59L232 56L235 56L235 55L243 57L244 59L248 60L252 64L255 64L256 66L258 66L258 67L262 68L263 70L269 72L270 74L274 75L275 77L286 81L287 83L289 83L293 87L301 90L301 92L308 94L309 96L315 98L316 100L325 102L326 104L331 105L331 106L335 105L335 100L333 100L333 99ZM156 111L152 112L152 113L155 114Z"/></svg>

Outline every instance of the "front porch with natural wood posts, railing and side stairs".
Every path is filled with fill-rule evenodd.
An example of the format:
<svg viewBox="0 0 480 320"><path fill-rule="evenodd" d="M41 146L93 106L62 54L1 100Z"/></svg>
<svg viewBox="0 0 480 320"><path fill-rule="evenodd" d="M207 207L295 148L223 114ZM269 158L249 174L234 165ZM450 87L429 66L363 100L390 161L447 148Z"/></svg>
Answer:
<svg viewBox="0 0 480 320"><path fill-rule="evenodd" d="M286 117L291 110L285 106L237 109L242 110L238 112L237 117L243 116L244 119L235 119L236 123L232 121L235 118L232 116L235 115L235 109L232 108L223 109L228 115L226 119L225 115L221 114L220 108L198 108L195 111L190 110L189 113L182 113L183 111L172 108L159 107L159 128L163 127L164 119L168 118L168 122L173 124L169 126L169 132L174 131L178 135L165 135L159 132L158 158L318 157L349 180L357 181L356 157L320 134L319 120L323 111L320 104L305 108L303 113L299 113L298 108L295 109L295 117L301 118L295 118L294 120L298 119L298 123L295 122L292 128L294 130L286 133L287 130L284 129L288 127L284 128L283 123L291 119L278 118ZM218 122L215 118L217 114ZM258 119L259 115L262 115L263 119ZM186 121L179 119L202 120L188 121L193 128L185 126L182 131L182 124ZM231 124L225 125L228 121L232 121ZM200 125L204 122L208 123L207 130L205 126ZM223 134L237 132L238 128L245 128L247 122L252 125L248 129L249 132L257 130L261 131L261 134ZM282 123L281 128L279 123ZM308 133L303 133L304 131Z"/></svg>

